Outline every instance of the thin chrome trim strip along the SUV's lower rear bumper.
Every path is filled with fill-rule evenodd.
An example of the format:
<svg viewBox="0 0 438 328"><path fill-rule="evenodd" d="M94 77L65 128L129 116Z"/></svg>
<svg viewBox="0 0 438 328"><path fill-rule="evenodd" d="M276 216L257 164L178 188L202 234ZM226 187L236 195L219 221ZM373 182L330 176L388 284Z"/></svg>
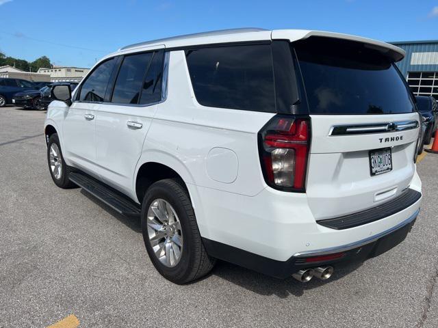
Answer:
<svg viewBox="0 0 438 328"><path fill-rule="evenodd" d="M420 198L420 200L421 200L421 198ZM420 200L418 200L417 202L420 202ZM415 204L417 204L417 203L415 203ZM385 231L381 232L380 234L376 234L374 236L370 236L368 238L362 239L361 241L355 241L354 243L349 243L349 244L337 246L337 247L317 249L314 251L300 251L299 253L294 254L292 257L307 258L309 256L320 256L320 255L326 255L326 254L341 253L342 251L349 251L350 249L355 249L357 247L361 247L363 245L373 243L377 239L382 238L383 236L386 236L387 234L390 234L391 232L394 232L394 231L406 226L407 224L411 223L418 216L418 213L420 213L420 208L418 208L415 211L415 213L413 213L413 215L411 215L409 218L398 223L398 225L396 225L388 230L385 230Z"/></svg>

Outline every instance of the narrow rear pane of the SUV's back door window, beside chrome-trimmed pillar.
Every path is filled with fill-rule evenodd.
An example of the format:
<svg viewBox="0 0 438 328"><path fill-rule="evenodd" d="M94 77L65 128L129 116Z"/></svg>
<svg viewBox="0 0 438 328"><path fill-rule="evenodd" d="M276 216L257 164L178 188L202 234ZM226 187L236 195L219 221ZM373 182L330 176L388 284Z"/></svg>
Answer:
<svg viewBox="0 0 438 328"><path fill-rule="evenodd" d="M163 60L164 51L154 53L146 79L144 79L140 104L149 104L162 100Z"/></svg>

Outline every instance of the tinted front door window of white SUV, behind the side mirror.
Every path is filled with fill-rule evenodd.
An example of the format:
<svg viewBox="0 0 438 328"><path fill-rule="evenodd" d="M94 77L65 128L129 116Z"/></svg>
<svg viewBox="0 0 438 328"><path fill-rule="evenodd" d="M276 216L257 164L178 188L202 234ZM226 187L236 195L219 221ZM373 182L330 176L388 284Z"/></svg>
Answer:
<svg viewBox="0 0 438 328"><path fill-rule="evenodd" d="M108 81L110 81L111 73L114 69L114 61L114 59L104 61L93 70L82 84L79 100L103 101Z"/></svg>

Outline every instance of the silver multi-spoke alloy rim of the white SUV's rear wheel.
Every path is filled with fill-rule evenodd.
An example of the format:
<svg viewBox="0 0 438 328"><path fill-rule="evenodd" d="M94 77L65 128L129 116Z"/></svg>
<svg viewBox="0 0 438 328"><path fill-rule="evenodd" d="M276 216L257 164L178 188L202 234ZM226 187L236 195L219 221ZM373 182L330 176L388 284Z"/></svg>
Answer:
<svg viewBox="0 0 438 328"><path fill-rule="evenodd" d="M155 256L166 267L175 267L183 251L183 234L177 213L166 200L157 199L149 206L146 222Z"/></svg>

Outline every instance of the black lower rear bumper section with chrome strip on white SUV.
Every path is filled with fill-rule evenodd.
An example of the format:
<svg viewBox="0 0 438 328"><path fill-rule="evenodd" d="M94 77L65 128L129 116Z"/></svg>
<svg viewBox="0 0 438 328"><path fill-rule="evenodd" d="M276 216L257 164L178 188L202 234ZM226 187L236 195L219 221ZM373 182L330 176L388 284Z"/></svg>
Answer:
<svg viewBox="0 0 438 328"><path fill-rule="evenodd" d="M366 260L381 255L404 241L408 232L411 231L418 213L419 210L407 220L398 224L398 226L376 236L355 243L350 243L348 245L332 247L331 249L318 249L307 253L303 252L301 254L295 254L287 261L272 260L271 258L266 258L264 256L244 251L243 249L237 249L229 245L211 241L207 238L203 238L203 243L210 256L226 260L227 262L240 265L241 267L265 275L285 279L291 277L293 273L296 273L300 269L311 269L327 265L336 266L336 264L342 262ZM337 254L339 255L339 258L336 258L335 260L324 260L323 256L329 254ZM321 260L312 260L312 262L308 262L312 257L313 260L318 258Z"/></svg>

